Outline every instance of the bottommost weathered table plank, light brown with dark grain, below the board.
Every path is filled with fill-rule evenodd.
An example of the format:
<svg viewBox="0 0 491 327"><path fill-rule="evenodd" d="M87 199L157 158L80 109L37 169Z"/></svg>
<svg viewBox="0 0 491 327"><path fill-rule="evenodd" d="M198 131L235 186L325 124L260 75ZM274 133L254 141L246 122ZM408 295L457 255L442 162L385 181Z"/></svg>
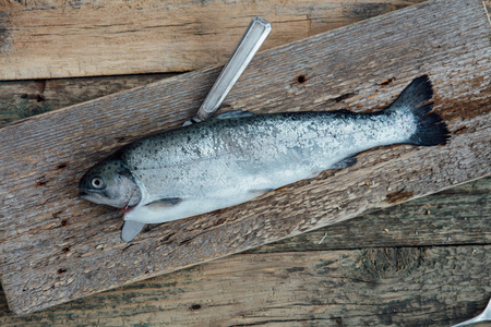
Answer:
<svg viewBox="0 0 491 327"><path fill-rule="evenodd" d="M239 254L43 313L2 315L0 324L451 326L484 308L490 251L477 245Z"/></svg>

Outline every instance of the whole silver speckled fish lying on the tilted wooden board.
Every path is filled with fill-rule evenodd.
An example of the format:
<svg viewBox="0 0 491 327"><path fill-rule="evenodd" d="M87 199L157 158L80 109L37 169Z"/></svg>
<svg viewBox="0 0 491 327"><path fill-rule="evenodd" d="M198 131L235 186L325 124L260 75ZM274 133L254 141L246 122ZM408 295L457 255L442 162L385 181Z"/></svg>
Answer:
<svg viewBox="0 0 491 327"><path fill-rule="evenodd" d="M235 206L272 190L356 165L370 148L445 144L450 132L432 111L428 75L386 109L251 113L229 111L123 146L91 168L80 195L121 208L121 239L161 223Z"/></svg>

